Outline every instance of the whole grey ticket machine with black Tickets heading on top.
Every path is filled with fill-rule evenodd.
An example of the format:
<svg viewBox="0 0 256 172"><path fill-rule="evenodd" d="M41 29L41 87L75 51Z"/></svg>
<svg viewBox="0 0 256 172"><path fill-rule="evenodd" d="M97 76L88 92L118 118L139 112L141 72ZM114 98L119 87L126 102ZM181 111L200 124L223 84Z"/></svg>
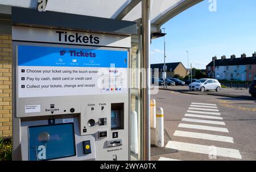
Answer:
<svg viewBox="0 0 256 172"><path fill-rule="evenodd" d="M129 160L130 44L13 26L16 160Z"/></svg>

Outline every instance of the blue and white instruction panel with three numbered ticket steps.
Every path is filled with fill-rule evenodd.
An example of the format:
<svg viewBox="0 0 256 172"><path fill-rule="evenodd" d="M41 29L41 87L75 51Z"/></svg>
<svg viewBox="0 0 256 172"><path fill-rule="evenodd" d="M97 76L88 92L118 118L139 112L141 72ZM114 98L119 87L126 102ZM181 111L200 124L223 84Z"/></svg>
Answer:
<svg viewBox="0 0 256 172"><path fill-rule="evenodd" d="M127 49L17 49L18 98L127 93Z"/></svg>

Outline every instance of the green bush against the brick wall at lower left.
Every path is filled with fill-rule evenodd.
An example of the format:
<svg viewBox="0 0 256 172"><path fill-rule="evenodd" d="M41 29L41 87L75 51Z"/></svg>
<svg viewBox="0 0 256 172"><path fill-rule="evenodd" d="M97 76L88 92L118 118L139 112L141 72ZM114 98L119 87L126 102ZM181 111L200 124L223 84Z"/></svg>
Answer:
<svg viewBox="0 0 256 172"><path fill-rule="evenodd" d="M11 161L12 140L3 140L0 138L0 161Z"/></svg>

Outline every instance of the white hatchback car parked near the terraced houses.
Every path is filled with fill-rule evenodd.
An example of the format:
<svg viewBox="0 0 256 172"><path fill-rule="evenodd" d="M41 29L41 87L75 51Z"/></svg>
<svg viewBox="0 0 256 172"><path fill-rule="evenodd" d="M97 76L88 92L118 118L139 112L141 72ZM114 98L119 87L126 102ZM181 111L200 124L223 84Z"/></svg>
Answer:
<svg viewBox="0 0 256 172"><path fill-rule="evenodd" d="M189 84L188 89L191 90L191 84ZM199 79L196 82L192 83L192 90L200 90L200 91L208 91L208 90L216 90L220 92L221 84L217 79Z"/></svg>

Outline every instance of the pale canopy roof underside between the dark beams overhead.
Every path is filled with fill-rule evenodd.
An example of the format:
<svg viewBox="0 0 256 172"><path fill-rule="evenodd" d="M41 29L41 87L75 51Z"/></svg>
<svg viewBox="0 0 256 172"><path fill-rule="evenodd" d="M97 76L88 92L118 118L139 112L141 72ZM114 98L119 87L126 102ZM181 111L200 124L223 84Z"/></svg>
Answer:
<svg viewBox="0 0 256 172"><path fill-rule="evenodd" d="M161 26L203 0L151 0L151 24ZM0 5L36 9L36 0L0 0ZM141 0L48 0L47 11L134 21L141 18Z"/></svg>

